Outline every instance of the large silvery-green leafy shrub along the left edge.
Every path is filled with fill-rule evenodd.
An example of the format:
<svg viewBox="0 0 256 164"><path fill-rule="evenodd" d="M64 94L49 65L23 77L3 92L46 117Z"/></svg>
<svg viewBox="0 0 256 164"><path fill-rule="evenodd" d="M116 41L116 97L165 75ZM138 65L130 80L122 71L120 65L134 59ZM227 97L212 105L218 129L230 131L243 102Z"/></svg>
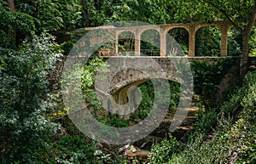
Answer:
<svg viewBox="0 0 256 164"><path fill-rule="evenodd" d="M47 70L61 54L52 37L43 34L26 41L19 51L0 49L1 163L34 163L59 128L45 116L53 109Z"/></svg>

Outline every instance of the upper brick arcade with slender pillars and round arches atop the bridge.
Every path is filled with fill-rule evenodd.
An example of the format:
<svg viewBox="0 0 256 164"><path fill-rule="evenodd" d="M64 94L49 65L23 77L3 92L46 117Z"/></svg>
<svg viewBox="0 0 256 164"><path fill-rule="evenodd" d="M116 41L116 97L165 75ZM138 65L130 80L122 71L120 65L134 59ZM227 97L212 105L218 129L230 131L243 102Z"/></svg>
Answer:
<svg viewBox="0 0 256 164"><path fill-rule="evenodd" d="M133 35L133 38L135 40L134 44L134 51L135 55L139 56L141 54L141 42L143 40L142 36L145 31L154 30L157 31L160 36L160 56L166 56L168 52L172 52L172 49L168 49L168 32L172 29L176 28L183 28L186 31L188 31L189 34L189 57L195 56L195 35L198 30L200 30L202 27L205 26L215 26L219 29L221 32L221 43L220 43L220 55L221 57L227 56L227 45L228 45L228 31L230 31L230 28L232 25L229 23L229 21L226 20L220 20L220 21L212 21L212 22L194 22L194 23L187 23L187 24L165 24L165 25L138 25L138 26L120 26L116 27L113 25L110 26L102 26L102 27L96 27L96 28L90 28L89 30L96 30L96 29L104 29L110 33L110 35L113 37L114 42L114 52L111 52L109 49L103 49L100 51L100 54L102 55L119 55L119 39L120 35L124 32L130 32ZM87 29L87 28L85 28ZM87 29L88 30L88 29ZM102 37L94 37L90 39L90 44L93 45L96 42L102 42Z"/></svg>

